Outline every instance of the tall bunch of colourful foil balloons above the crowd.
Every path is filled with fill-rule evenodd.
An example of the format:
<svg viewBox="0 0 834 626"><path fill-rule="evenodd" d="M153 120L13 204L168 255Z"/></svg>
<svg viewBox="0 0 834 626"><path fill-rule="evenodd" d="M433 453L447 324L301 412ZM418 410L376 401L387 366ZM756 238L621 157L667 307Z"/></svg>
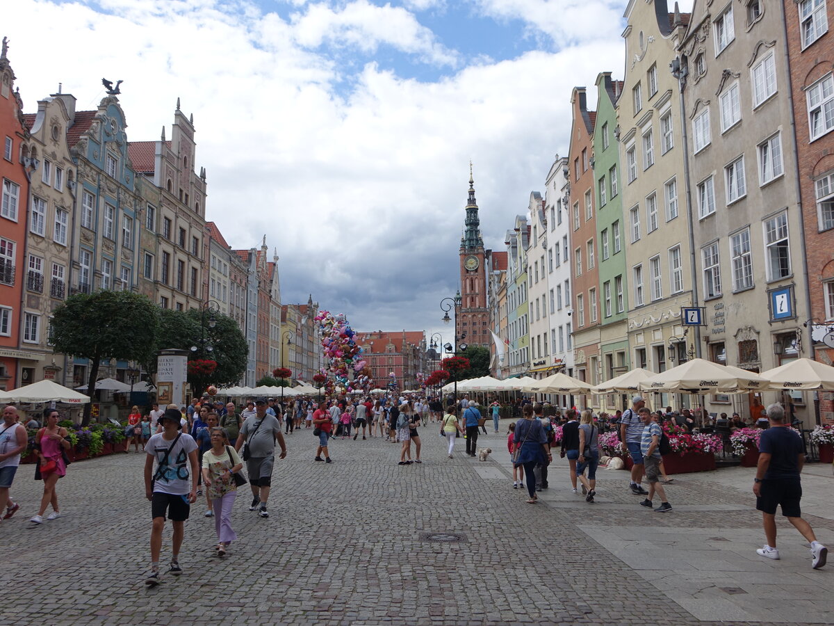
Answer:
<svg viewBox="0 0 834 626"><path fill-rule="evenodd" d="M328 376L327 392L349 393L354 390L367 391L373 381L362 370L368 365L362 357L362 348L356 345L354 330L344 313L333 315L328 310L319 310L315 316L319 322L319 336L328 367L322 373ZM361 375L358 375L361 372Z"/></svg>

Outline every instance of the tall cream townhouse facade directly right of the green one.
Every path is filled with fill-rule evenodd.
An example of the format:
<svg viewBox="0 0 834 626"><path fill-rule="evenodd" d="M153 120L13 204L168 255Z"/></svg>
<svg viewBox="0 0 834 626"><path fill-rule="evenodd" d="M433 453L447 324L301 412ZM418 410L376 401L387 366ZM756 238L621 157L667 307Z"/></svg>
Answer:
<svg viewBox="0 0 834 626"><path fill-rule="evenodd" d="M680 91L669 71L688 18L668 13L666 0L630 0L625 9L625 78L617 126L622 236L631 283L629 345L631 366L658 372L671 366L668 346L676 355L700 349L696 332L685 338L681 327L681 306L693 301L692 263ZM668 401L661 396L661 404Z"/></svg>

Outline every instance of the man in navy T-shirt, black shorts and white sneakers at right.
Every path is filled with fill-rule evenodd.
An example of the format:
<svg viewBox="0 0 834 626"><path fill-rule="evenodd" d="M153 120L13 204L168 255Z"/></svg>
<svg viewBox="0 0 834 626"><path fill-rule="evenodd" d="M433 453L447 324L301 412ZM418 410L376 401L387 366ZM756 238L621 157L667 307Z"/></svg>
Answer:
<svg viewBox="0 0 834 626"><path fill-rule="evenodd" d="M759 438L759 464L753 479L756 509L761 511L767 543L756 550L760 557L779 558L776 549L776 505L802 537L811 543L811 568L826 564L828 548L816 541L811 524L802 519L799 501L802 497L800 472L805 464L802 439L785 423L785 409L771 404L766 409L770 428Z"/></svg>

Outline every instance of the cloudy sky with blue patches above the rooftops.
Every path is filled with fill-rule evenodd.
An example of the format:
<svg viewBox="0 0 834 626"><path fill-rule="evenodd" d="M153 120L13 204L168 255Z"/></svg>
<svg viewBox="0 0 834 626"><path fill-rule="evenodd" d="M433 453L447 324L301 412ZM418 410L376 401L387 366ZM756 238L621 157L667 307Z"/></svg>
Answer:
<svg viewBox="0 0 834 626"><path fill-rule="evenodd" d="M681 8L691 2L681 3ZM673 3L670 2L670 6ZM282 300L356 330L440 325L459 282L470 160L485 245L566 154L570 94L623 74L625 0L15 0L24 112L95 109L121 79L128 141L193 114L207 220L277 250ZM33 18L37 16L37 18ZM447 338L444 338L447 341Z"/></svg>

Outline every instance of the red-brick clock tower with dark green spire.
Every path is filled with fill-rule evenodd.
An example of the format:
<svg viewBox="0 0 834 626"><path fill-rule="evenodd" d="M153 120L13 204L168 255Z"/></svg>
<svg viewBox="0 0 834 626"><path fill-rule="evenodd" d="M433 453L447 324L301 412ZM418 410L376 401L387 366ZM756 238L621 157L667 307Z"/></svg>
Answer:
<svg viewBox="0 0 834 626"><path fill-rule="evenodd" d="M490 346L490 310L486 305L486 264L484 240L480 236L475 180L470 163L469 199L463 237L460 238L460 309L458 332L466 333L470 346Z"/></svg>

